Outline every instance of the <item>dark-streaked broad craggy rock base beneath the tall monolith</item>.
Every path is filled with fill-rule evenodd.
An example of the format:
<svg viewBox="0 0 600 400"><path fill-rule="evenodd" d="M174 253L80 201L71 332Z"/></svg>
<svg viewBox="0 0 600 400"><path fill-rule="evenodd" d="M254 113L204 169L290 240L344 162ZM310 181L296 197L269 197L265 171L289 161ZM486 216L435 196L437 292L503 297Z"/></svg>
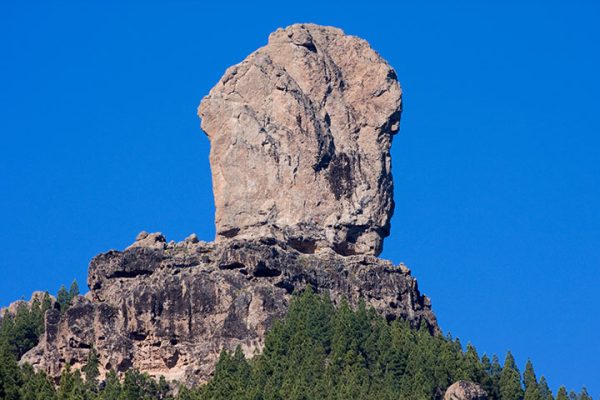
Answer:
<svg viewBox="0 0 600 400"><path fill-rule="evenodd" d="M306 286L337 302L359 298L388 319L414 326L437 323L429 299L404 267L373 256L303 254L266 240L204 243L192 236L167 243L141 234L124 251L90 263L90 292L61 316L46 314L45 334L24 362L58 378L80 368L90 349L101 372L135 367L188 384L206 381L222 348L240 345L248 356L281 318L291 293Z"/></svg>

